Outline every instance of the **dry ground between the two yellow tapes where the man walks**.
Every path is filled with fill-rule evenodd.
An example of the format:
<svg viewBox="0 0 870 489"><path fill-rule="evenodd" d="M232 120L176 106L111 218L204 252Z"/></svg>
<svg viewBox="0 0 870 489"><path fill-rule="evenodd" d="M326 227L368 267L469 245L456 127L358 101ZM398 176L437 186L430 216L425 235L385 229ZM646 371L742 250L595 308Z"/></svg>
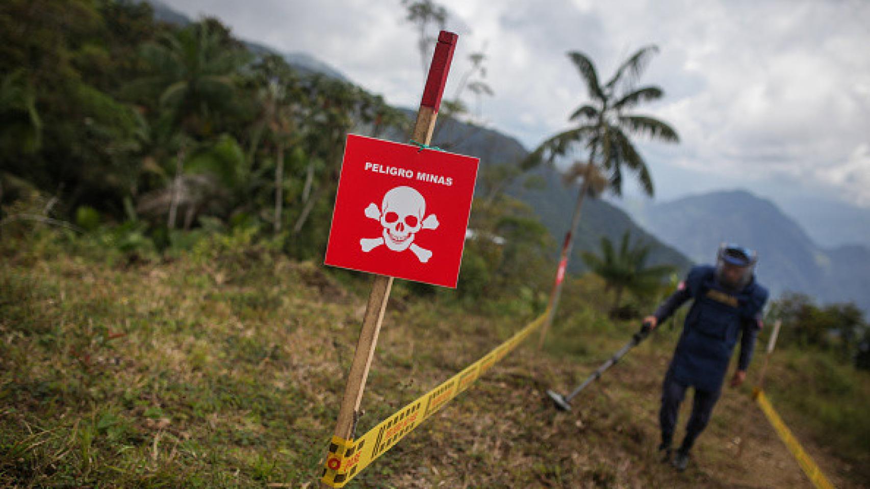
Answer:
<svg viewBox="0 0 870 489"><path fill-rule="evenodd" d="M559 365L523 347L403 440L381 470L406 471L390 480L412 487L813 488L743 390L723 394L686 472L661 464L659 377L667 358L637 353L561 413L545 397L547 379L582 378L595 366ZM680 429L690 405L684 403ZM740 423L746 427L738 458ZM842 461L809 440L804 447L835 486L859 487L839 476L847 468ZM395 466L410 453L422 459ZM363 486L378 486L378 479Z"/></svg>

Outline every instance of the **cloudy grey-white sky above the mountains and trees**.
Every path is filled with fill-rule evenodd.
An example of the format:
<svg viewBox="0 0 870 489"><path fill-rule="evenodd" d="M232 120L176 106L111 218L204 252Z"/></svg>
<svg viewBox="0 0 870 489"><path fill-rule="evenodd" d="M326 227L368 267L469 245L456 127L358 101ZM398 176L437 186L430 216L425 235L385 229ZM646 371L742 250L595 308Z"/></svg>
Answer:
<svg viewBox="0 0 870 489"><path fill-rule="evenodd" d="M423 69L399 0L164 0L221 18L241 37L305 51L387 101L414 107ZM870 2L864 0L445 0L459 44L445 96L484 50L488 124L532 148L565 129L586 89L566 52L608 77L655 43L644 108L679 145L643 143L659 199L747 188L793 210L800 198L870 208ZM468 97L466 102L474 99Z"/></svg>

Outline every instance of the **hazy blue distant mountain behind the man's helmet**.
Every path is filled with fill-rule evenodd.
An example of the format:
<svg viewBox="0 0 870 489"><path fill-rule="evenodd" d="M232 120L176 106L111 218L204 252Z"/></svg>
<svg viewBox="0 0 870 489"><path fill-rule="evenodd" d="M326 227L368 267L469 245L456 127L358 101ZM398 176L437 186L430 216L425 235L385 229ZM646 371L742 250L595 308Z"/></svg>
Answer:
<svg viewBox="0 0 870 489"><path fill-rule="evenodd" d="M870 310L870 248L821 248L773 202L745 190L711 192L637 209L639 223L690 259L712 262L721 242L759 253L757 275L774 296L854 301Z"/></svg>

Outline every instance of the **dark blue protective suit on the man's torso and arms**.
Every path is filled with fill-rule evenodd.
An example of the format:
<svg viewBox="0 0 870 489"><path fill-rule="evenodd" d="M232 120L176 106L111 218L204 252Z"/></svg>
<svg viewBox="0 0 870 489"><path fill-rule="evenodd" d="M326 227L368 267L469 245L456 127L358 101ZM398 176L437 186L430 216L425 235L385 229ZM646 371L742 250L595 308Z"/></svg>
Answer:
<svg viewBox="0 0 870 489"><path fill-rule="evenodd" d="M743 290L734 294L716 281L715 268L692 268L686 281L655 312L661 324L678 307L694 299L668 370L673 379L686 387L718 392L739 338L738 368L746 370L767 295L767 289L754 276Z"/></svg>

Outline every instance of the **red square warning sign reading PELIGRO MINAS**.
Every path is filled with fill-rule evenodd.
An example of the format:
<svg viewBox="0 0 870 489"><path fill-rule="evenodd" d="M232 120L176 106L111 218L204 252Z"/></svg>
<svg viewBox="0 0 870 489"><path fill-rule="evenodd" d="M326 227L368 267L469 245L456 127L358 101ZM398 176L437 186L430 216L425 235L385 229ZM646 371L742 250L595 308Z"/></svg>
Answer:
<svg viewBox="0 0 870 489"><path fill-rule="evenodd" d="M348 135L327 265L456 287L478 159Z"/></svg>

